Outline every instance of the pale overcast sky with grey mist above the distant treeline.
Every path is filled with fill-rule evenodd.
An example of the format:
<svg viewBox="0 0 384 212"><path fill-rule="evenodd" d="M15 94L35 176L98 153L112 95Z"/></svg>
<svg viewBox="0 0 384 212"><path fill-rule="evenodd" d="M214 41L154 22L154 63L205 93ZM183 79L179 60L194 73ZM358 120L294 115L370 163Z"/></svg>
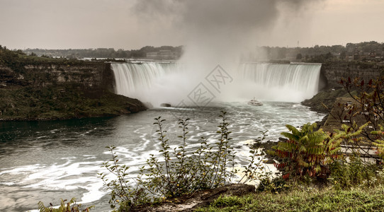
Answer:
<svg viewBox="0 0 384 212"><path fill-rule="evenodd" d="M346 45L384 42L383 20L384 0L0 0L0 45Z"/></svg>

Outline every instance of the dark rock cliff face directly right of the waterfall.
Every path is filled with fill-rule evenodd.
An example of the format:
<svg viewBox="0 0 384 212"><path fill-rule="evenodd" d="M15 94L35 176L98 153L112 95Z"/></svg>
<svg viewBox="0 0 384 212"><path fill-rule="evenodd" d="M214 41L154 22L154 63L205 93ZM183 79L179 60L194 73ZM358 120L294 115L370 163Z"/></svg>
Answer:
<svg viewBox="0 0 384 212"><path fill-rule="evenodd" d="M360 77L364 81L378 78L384 73L384 64L363 62L330 62L322 64L321 74L328 88L341 88L341 78Z"/></svg>

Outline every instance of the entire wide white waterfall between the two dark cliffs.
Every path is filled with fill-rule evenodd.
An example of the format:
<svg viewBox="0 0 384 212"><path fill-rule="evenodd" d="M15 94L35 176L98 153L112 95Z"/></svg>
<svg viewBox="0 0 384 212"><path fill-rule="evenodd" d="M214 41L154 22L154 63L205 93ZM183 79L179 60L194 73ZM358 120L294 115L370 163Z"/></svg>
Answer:
<svg viewBox="0 0 384 212"><path fill-rule="evenodd" d="M215 90L201 71L191 71L179 63L147 62L112 64L115 92L154 107L161 103L178 105L204 83L215 98L213 102L262 101L300 102L317 93L321 64L239 64L225 69L234 79ZM206 73L208 74L208 73ZM186 102L188 104L188 102ZM190 102L191 103L191 102Z"/></svg>

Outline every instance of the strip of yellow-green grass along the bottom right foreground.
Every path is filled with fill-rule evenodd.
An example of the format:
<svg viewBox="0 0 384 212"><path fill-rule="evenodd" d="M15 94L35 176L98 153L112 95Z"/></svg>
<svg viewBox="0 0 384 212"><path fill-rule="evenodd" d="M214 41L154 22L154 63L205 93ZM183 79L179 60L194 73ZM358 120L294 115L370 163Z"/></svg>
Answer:
<svg viewBox="0 0 384 212"><path fill-rule="evenodd" d="M383 186L336 191L290 190L279 194L256 193L241 197L221 196L196 211L383 211Z"/></svg>

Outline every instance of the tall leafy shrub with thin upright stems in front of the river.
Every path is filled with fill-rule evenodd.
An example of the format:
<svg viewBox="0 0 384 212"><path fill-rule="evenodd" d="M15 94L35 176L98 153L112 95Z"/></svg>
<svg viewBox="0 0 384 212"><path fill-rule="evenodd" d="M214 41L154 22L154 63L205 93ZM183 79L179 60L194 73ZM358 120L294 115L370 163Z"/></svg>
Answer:
<svg viewBox="0 0 384 212"><path fill-rule="evenodd" d="M159 129L159 142L162 149L159 151L164 158L164 163L159 162L154 155L147 161L149 165L149 188L153 194L166 198L191 194L201 189L221 187L232 181L234 170L234 151L230 148L228 131L225 117L222 112L222 123L218 126L220 138L214 146L207 143L207 139L201 138L201 147L196 151L186 153L188 134L188 119L179 120L179 127L183 134L179 136L182 144L171 150L169 139L166 139L166 131L162 128L165 121L161 117L155 119ZM232 171L228 172L227 167L232 165Z"/></svg>

